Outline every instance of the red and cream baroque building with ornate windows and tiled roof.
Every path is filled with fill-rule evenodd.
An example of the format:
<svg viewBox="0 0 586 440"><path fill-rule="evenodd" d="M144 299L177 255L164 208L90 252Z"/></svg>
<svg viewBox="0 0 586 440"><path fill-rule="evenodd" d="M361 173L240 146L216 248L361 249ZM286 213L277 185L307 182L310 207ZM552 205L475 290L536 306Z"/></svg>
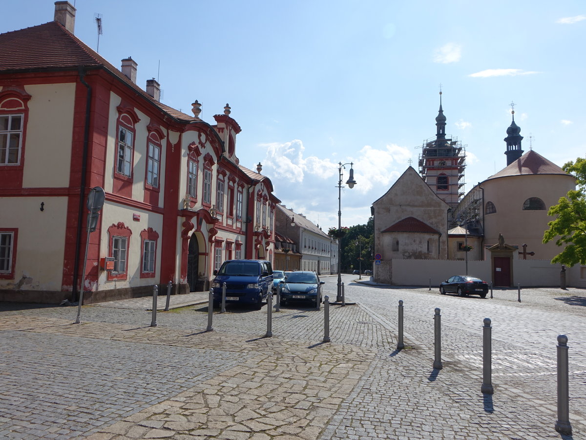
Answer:
<svg viewBox="0 0 586 440"><path fill-rule="evenodd" d="M239 164L228 104L212 124L197 101L193 116L165 106L134 60L111 65L55 6L55 21L0 34L0 300L76 300L82 282L84 303L169 280L206 290L224 259L272 260L279 200L260 164Z"/></svg>

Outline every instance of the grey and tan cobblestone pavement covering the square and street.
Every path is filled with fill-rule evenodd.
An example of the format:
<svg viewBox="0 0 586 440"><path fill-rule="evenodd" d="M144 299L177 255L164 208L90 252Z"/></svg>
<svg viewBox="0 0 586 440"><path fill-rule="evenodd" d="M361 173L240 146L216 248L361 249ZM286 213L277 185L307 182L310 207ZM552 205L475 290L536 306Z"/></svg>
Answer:
<svg viewBox="0 0 586 440"><path fill-rule="evenodd" d="M203 295L172 296L172 307L196 305L159 312L156 327L152 299L84 306L81 324L76 307L0 303L0 438L586 438L584 290L523 290L519 303L516 289L460 298L354 279L344 277L345 292L357 305L330 308L331 343L323 307L282 307L264 337L266 306L216 310L206 332ZM334 299L336 279L325 280ZM432 368L435 307L442 370ZM492 396L480 392L487 316ZM554 431L559 333L573 436Z"/></svg>

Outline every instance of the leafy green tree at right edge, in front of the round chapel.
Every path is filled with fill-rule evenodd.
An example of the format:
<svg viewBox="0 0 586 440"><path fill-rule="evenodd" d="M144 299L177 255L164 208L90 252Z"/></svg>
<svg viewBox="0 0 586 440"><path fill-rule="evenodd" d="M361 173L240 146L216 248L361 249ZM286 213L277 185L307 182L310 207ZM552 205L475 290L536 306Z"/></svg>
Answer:
<svg viewBox="0 0 586 440"><path fill-rule="evenodd" d="M577 189L568 191L557 205L547 212L556 216L548 222L549 229L543 235L543 242L556 239L556 245L564 250L551 259L552 263L574 266L586 265L586 159L577 158L562 167L576 178Z"/></svg>

